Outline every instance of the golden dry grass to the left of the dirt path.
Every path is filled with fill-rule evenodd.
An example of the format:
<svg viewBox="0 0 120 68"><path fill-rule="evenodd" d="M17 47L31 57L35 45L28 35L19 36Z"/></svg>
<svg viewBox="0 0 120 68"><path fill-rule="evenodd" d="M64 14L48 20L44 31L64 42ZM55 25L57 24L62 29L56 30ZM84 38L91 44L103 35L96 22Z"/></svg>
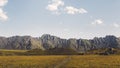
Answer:
<svg viewBox="0 0 120 68"><path fill-rule="evenodd" d="M65 56L0 56L0 68L53 68Z"/></svg>

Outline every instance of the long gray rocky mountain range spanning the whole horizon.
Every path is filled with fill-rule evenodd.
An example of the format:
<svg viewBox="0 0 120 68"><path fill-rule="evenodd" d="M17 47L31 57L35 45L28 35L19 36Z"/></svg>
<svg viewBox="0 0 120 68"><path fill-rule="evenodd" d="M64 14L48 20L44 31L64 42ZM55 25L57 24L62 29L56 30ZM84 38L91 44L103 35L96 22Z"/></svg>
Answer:
<svg viewBox="0 0 120 68"><path fill-rule="evenodd" d="M106 36L104 38L94 39L61 39L56 36L44 34L39 38L31 36L13 36L0 37L0 49L52 49L52 48L70 48L78 52L99 48L120 48L120 38L115 36Z"/></svg>

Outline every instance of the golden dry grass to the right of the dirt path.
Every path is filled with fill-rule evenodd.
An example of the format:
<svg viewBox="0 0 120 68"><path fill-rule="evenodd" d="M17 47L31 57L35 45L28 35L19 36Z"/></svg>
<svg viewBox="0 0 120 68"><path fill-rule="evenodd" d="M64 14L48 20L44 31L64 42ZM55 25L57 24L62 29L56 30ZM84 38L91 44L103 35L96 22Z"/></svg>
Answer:
<svg viewBox="0 0 120 68"><path fill-rule="evenodd" d="M64 68L120 68L120 56L72 56Z"/></svg>

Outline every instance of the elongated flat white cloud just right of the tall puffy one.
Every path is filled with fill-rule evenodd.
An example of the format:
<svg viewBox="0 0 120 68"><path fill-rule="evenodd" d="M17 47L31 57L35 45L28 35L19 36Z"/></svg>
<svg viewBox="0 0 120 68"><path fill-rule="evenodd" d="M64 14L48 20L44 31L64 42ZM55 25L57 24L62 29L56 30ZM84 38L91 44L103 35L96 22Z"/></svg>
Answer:
<svg viewBox="0 0 120 68"><path fill-rule="evenodd" d="M87 11L85 9L83 9L83 8L78 9L78 8L73 7L73 6L67 6L65 8L65 11L67 12L67 14L78 14L78 13L79 14L84 14L84 13L87 13Z"/></svg>

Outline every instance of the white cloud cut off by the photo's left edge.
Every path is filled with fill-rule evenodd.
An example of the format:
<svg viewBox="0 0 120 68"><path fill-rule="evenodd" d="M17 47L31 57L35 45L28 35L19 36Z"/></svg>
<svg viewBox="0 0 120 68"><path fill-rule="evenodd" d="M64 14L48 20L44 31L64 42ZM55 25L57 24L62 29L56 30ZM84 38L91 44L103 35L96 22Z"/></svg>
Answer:
<svg viewBox="0 0 120 68"><path fill-rule="evenodd" d="M6 21L8 16L6 12L3 11L3 7L7 4L8 0L0 0L0 20Z"/></svg>

